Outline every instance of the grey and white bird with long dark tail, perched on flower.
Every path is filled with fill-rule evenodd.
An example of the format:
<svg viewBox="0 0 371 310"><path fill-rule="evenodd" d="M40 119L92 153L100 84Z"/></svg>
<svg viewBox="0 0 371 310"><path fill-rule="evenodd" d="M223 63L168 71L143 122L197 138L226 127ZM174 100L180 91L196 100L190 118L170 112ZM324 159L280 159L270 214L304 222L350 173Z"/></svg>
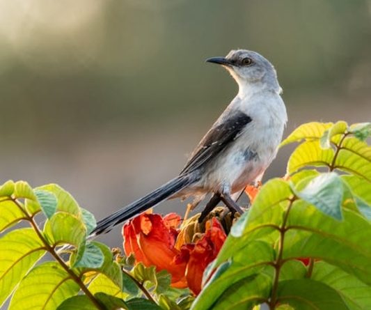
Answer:
<svg viewBox="0 0 371 310"><path fill-rule="evenodd" d="M107 233L166 199L194 197L192 206L197 206L212 194L203 216L219 201L242 212L232 195L260 182L283 137L287 113L282 88L274 66L258 52L233 49L206 62L228 70L239 86L237 95L175 178L97 222L90 237Z"/></svg>

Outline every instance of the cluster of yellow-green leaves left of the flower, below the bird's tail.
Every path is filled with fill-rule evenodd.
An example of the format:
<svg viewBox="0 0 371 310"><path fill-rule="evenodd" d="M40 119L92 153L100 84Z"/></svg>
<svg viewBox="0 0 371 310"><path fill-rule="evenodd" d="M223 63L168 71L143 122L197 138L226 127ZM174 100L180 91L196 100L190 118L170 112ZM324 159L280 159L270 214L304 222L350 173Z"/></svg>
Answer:
<svg viewBox="0 0 371 310"><path fill-rule="evenodd" d="M43 228L35 222L39 214ZM30 227L10 231L19 222ZM169 303L171 309L189 309L193 299L170 288L168 272L133 268L132 257L117 254L115 260L109 247L88 240L95 225L94 216L58 185L1 185L0 307L10 297L9 310L158 310ZM39 263L42 257L52 261Z"/></svg>

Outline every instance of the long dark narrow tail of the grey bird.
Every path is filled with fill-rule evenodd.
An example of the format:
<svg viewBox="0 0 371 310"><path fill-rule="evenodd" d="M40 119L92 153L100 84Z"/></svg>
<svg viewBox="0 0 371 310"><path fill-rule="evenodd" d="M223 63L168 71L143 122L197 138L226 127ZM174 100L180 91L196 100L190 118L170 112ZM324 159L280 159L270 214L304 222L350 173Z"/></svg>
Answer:
<svg viewBox="0 0 371 310"><path fill-rule="evenodd" d="M139 215L141 212L148 210L156 206L161 201L164 201L168 197L177 192L180 192L184 187L193 182L193 178L190 176L178 176L168 183L162 185L161 187L155 189L150 194L145 195L141 199L138 199L128 206L121 208L120 210L114 212L112 215L97 222L97 227L90 234L90 238L95 235L100 235L101 233L108 233L111 231L113 226L120 224L121 222L131 219L135 215Z"/></svg>

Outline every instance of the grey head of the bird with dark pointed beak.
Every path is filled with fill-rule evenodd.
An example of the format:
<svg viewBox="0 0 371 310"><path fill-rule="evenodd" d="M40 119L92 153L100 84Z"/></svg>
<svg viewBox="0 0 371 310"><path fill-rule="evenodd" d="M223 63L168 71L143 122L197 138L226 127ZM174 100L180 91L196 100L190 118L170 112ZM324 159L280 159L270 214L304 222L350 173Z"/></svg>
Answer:
<svg viewBox="0 0 371 310"><path fill-rule="evenodd" d="M273 65L257 52L236 49L230 51L226 57L212 57L206 61L223 65L240 88L260 84L272 91L281 91Z"/></svg>

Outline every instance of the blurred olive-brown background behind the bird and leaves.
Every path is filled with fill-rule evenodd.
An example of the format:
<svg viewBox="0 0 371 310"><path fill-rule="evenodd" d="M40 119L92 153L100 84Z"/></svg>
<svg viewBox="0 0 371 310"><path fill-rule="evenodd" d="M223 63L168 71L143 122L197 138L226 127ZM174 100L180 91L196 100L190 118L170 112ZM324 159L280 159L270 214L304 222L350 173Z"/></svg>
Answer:
<svg viewBox="0 0 371 310"><path fill-rule="evenodd" d="M155 189L237 93L204 62L236 48L276 66L285 136L371 121L370 0L0 0L0 183L58 183L97 219Z"/></svg>

